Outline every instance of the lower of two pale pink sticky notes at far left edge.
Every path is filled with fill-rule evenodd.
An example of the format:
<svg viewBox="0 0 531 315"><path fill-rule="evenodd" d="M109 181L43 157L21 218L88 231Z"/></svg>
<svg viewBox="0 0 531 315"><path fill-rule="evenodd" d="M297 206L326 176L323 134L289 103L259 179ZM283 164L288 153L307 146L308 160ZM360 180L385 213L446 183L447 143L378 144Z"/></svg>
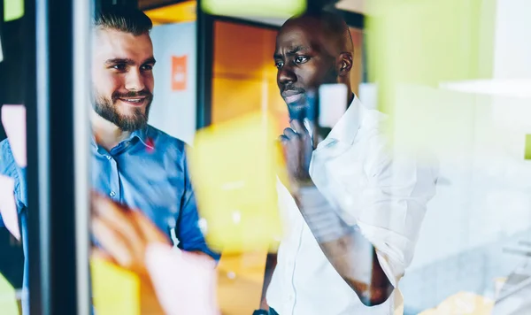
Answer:
<svg viewBox="0 0 531 315"><path fill-rule="evenodd" d="M0 175L0 213L4 226L20 241L19 215L15 204L15 180Z"/></svg>

